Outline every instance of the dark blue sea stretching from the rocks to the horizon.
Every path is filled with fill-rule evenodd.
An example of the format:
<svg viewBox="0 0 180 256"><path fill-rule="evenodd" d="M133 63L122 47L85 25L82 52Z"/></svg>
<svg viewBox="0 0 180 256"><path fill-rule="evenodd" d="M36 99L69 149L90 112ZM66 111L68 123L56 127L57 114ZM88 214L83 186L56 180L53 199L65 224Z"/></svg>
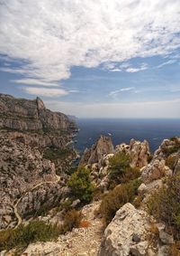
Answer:
<svg viewBox="0 0 180 256"><path fill-rule="evenodd" d="M114 146L129 143L130 138L147 139L152 152L164 138L180 137L180 119L77 119L76 123L80 128L76 136L80 153L100 135L111 136Z"/></svg>

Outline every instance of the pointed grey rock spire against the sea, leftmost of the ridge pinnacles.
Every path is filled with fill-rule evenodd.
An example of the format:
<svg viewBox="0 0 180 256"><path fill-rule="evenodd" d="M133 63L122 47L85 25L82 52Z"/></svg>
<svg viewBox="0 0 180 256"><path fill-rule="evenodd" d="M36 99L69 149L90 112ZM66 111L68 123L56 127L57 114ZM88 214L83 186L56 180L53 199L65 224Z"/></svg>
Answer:
<svg viewBox="0 0 180 256"><path fill-rule="evenodd" d="M103 156L112 154L113 152L114 148L111 137L101 136L90 149L85 149L80 165L92 165L94 163L98 163L98 166L100 167L102 166L101 162L103 160Z"/></svg>

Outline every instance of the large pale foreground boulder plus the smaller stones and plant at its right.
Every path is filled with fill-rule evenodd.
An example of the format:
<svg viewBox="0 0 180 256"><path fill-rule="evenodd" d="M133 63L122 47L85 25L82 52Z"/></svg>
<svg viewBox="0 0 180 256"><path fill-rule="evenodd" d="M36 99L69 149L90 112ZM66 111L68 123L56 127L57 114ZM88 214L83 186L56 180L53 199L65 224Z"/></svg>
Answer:
<svg viewBox="0 0 180 256"><path fill-rule="evenodd" d="M128 203L105 229L98 256L168 256L165 249L173 242L165 225L155 223L148 213Z"/></svg>

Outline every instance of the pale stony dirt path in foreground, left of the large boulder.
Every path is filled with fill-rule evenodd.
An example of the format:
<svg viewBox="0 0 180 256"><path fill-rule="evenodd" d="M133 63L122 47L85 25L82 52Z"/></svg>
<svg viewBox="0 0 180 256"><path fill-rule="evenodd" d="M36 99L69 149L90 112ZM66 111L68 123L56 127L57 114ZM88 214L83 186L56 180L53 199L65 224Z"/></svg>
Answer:
<svg viewBox="0 0 180 256"><path fill-rule="evenodd" d="M48 254L49 256L96 256L102 238L103 224L94 216L94 210L99 202L87 204L83 208L84 220L89 223L87 228L73 229L65 235L60 235L57 242L38 242L30 244L25 252L28 255Z"/></svg>

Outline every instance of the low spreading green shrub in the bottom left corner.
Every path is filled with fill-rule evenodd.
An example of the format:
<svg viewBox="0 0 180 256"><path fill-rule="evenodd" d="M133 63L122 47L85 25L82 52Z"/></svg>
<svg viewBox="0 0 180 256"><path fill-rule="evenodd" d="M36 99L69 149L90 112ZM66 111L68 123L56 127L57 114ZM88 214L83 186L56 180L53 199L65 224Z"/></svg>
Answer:
<svg viewBox="0 0 180 256"><path fill-rule="evenodd" d="M26 226L19 225L17 229L0 232L0 251L14 247L22 248L31 242L47 242L58 238L60 227L57 224L34 221Z"/></svg>

